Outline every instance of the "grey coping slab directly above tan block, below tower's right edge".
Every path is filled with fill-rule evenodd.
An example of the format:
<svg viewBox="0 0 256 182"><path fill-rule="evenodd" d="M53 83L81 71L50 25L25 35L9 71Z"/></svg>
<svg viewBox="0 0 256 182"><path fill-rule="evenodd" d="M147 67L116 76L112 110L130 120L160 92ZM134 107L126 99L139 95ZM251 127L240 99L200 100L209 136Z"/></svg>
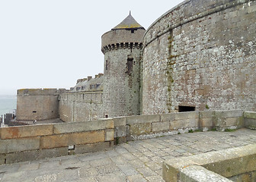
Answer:
<svg viewBox="0 0 256 182"><path fill-rule="evenodd" d="M160 121L160 115L139 115L126 117L126 124L142 124Z"/></svg>

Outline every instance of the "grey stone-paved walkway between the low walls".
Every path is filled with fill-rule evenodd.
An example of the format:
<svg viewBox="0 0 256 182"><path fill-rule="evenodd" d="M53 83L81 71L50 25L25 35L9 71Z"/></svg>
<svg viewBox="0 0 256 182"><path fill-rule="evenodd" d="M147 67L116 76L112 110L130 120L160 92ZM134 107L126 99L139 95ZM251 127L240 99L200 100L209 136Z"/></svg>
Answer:
<svg viewBox="0 0 256 182"><path fill-rule="evenodd" d="M104 152L0 165L0 181L156 181L162 161L256 143L256 131L184 133L123 143Z"/></svg>

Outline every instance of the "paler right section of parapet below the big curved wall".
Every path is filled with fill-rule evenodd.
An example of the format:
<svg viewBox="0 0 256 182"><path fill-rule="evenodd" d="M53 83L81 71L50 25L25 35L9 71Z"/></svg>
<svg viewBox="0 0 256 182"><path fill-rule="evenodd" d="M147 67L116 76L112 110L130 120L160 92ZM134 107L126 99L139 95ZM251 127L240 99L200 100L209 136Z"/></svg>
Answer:
<svg viewBox="0 0 256 182"><path fill-rule="evenodd" d="M194 130L238 129L244 127L244 112L191 111L162 115L139 115L114 118L117 143L165 135L193 132Z"/></svg>

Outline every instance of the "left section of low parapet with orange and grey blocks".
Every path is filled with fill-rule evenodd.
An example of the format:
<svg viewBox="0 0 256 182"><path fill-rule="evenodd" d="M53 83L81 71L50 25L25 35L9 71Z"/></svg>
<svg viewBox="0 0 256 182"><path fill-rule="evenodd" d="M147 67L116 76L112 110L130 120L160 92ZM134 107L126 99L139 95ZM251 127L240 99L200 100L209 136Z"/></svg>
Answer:
<svg viewBox="0 0 256 182"><path fill-rule="evenodd" d="M3 127L0 138L0 164L95 152L113 145L114 121Z"/></svg>

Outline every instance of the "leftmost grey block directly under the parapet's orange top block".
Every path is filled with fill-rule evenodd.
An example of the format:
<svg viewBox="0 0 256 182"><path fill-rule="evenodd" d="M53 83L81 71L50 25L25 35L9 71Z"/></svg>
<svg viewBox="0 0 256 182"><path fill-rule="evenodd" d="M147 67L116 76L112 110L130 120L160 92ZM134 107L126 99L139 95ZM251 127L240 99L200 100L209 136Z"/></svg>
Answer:
<svg viewBox="0 0 256 182"><path fill-rule="evenodd" d="M40 148L40 137L0 140L0 153L10 153Z"/></svg>

